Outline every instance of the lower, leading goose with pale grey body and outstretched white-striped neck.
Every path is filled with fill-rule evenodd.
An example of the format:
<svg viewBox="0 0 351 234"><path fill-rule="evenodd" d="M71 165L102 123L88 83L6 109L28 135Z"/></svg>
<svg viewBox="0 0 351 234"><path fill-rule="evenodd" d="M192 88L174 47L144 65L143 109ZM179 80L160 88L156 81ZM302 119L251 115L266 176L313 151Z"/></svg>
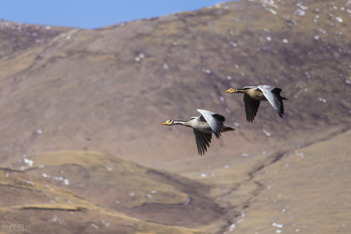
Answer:
<svg viewBox="0 0 351 234"><path fill-rule="evenodd" d="M207 147L210 147L212 133L216 135L217 139L221 135L221 132L234 131L234 128L227 127L223 125L225 121L224 116L202 109L198 109L198 112L201 113L199 117L191 117L189 121L181 120L167 120L162 125L183 125L193 128L196 145L200 155L204 154L207 151Z"/></svg>

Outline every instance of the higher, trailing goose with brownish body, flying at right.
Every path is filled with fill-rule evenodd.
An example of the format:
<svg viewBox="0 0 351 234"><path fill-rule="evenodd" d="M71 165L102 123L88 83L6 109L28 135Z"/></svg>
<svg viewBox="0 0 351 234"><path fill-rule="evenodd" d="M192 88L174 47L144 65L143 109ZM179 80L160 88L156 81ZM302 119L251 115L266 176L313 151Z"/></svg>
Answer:
<svg viewBox="0 0 351 234"><path fill-rule="evenodd" d="M282 89L270 85L248 86L243 89L231 88L227 93L243 93L246 112L246 121L252 122L256 116L260 101L269 101L276 109L280 118L283 118L283 100L289 100L280 95Z"/></svg>

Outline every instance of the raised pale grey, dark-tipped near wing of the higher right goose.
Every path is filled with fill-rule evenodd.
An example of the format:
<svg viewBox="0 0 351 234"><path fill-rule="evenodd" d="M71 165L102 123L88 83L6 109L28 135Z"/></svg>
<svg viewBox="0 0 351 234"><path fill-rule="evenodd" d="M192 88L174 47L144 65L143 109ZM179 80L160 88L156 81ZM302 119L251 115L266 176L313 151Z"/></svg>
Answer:
<svg viewBox="0 0 351 234"><path fill-rule="evenodd" d="M284 105L282 97L280 96L282 89L270 85L259 85L258 88L269 101L269 103L271 103L274 109L276 109L280 118L283 118L282 115L284 114Z"/></svg>

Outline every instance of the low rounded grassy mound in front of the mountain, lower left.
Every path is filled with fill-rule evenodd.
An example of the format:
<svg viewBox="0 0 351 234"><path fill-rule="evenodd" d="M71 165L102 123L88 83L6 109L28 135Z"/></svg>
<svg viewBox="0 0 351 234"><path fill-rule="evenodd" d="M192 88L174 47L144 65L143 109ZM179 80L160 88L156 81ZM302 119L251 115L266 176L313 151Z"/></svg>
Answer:
<svg viewBox="0 0 351 234"><path fill-rule="evenodd" d="M89 201L135 218L194 227L206 225L223 213L204 196L211 186L111 155L87 151L44 152L10 166L11 170L65 187ZM203 208L196 209L198 206ZM183 218L155 212L167 209Z"/></svg>

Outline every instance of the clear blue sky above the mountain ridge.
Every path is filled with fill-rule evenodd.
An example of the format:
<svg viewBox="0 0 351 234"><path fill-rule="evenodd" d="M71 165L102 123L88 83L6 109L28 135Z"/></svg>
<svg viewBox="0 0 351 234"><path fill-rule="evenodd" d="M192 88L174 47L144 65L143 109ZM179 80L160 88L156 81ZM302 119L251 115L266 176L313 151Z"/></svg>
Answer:
<svg viewBox="0 0 351 234"><path fill-rule="evenodd" d="M0 0L0 19L95 29L214 6L223 0Z"/></svg>

